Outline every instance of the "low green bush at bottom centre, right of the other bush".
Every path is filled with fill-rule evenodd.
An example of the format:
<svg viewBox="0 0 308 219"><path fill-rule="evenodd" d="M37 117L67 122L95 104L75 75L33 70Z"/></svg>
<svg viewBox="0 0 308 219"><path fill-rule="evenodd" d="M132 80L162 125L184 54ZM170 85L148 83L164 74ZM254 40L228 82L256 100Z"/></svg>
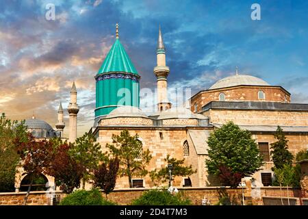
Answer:
<svg viewBox="0 0 308 219"><path fill-rule="evenodd" d="M192 202L181 194L172 195L167 190L149 190L131 205L192 205Z"/></svg>

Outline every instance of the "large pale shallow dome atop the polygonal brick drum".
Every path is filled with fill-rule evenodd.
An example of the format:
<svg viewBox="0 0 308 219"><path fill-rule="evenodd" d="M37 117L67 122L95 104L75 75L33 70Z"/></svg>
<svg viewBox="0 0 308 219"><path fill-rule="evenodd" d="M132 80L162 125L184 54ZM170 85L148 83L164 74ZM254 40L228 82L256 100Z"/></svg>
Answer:
<svg viewBox="0 0 308 219"><path fill-rule="evenodd" d="M214 83L209 90L218 88L228 88L232 86L239 85L253 85L253 86L269 86L266 81L260 79L259 77L254 77L251 75L231 75L229 77L224 77L216 83Z"/></svg>

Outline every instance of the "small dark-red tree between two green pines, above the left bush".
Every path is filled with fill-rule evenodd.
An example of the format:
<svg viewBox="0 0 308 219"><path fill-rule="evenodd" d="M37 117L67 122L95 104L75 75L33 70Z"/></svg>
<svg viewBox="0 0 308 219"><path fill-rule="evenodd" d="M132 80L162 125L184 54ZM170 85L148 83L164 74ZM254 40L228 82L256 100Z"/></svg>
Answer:
<svg viewBox="0 0 308 219"><path fill-rule="evenodd" d="M116 185L116 176L118 174L119 160L118 157L110 159L109 164L101 164L97 170L94 170L94 187L101 188L106 194L110 194Z"/></svg>

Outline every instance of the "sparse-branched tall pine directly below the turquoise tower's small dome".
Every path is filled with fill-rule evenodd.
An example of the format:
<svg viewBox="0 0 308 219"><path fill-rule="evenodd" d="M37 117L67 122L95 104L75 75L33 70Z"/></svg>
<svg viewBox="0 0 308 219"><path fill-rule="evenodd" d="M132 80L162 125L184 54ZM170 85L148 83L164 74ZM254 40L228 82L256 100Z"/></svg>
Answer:
<svg viewBox="0 0 308 219"><path fill-rule="evenodd" d="M149 149L143 151L138 135L130 136L127 130L121 131L120 136L113 134L112 143L106 144L106 147L110 149L111 157L118 157L120 163L118 174L121 177L128 177L129 188L132 188L132 177L143 177L148 173L146 165L152 158L150 151Z"/></svg>

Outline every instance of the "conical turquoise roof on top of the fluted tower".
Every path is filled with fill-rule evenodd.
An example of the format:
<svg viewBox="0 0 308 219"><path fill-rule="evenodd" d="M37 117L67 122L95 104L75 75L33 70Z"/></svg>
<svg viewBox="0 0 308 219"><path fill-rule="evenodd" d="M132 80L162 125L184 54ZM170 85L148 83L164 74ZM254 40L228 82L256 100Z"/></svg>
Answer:
<svg viewBox="0 0 308 219"><path fill-rule="evenodd" d="M118 38L116 38L116 42L112 45L97 74L109 72L125 72L138 75L135 66L133 66Z"/></svg>

